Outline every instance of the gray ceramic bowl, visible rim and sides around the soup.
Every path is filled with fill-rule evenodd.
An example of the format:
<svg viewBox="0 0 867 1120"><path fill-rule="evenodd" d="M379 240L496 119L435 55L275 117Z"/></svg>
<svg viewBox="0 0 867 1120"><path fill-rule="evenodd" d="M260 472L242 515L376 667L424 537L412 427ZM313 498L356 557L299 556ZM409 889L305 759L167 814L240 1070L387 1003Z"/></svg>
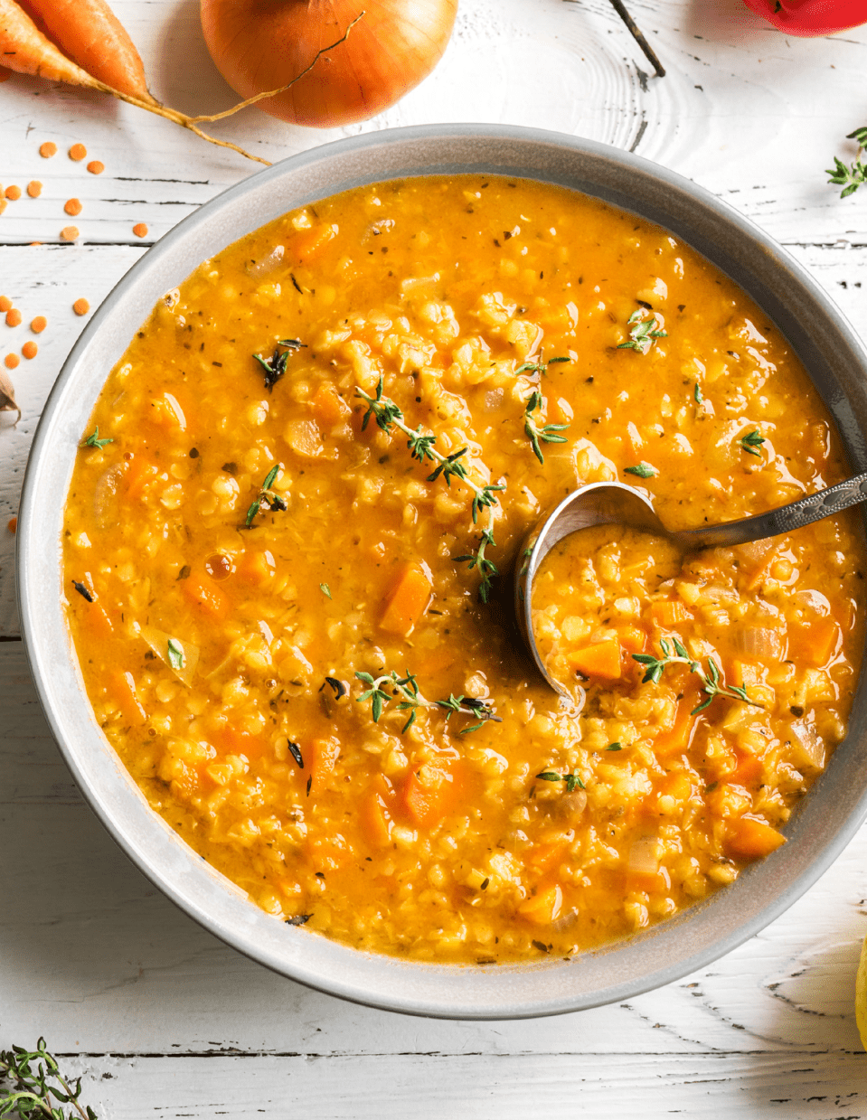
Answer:
<svg viewBox="0 0 867 1120"><path fill-rule="evenodd" d="M75 449L103 381L167 290L205 258L326 195L400 176L473 171L575 187L658 222L733 277L794 346L833 414L851 465L867 469L867 354L819 286L770 237L670 171L586 140L503 125L432 125L326 144L260 171L167 234L123 278L73 349L34 440L18 530L27 653L60 750L91 806L141 870L227 944L313 988L447 1018L553 1015L626 999L729 952L790 906L867 813L859 687L849 738L785 829L789 843L673 920L571 963L447 967L376 956L269 917L212 871L148 808L97 727L62 598L63 506Z"/></svg>

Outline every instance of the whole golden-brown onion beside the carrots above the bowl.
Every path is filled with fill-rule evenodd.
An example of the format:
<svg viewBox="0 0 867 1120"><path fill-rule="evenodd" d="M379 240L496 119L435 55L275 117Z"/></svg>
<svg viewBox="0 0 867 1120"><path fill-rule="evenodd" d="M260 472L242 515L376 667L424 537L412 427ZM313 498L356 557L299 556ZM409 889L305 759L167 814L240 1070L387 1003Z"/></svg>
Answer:
<svg viewBox="0 0 867 1120"><path fill-rule="evenodd" d="M457 0L201 0L202 29L217 69L242 97L291 124L334 128L369 120L434 69L448 44Z"/></svg>

